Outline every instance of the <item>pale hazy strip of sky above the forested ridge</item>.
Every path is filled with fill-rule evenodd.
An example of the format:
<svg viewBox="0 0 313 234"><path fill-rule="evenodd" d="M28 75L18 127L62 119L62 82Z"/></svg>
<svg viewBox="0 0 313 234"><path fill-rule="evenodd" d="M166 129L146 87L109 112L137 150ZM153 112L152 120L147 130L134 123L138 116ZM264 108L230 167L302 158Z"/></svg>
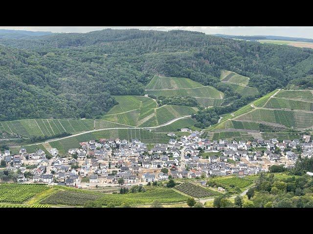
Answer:
<svg viewBox="0 0 313 234"><path fill-rule="evenodd" d="M301 38L312 38L313 39L313 27L309 26L22 26L22 27L5 27L0 26L0 29L15 29L15 30L29 30L29 31L49 31L54 33L86 33L90 31L101 30L105 28L112 29L129 29L129 28L138 28L145 30L162 30L168 31L173 29L182 29L190 31L199 31L206 34L229 34L229 35L271 35L271 36L286 36L286 37L301 37Z"/></svg>

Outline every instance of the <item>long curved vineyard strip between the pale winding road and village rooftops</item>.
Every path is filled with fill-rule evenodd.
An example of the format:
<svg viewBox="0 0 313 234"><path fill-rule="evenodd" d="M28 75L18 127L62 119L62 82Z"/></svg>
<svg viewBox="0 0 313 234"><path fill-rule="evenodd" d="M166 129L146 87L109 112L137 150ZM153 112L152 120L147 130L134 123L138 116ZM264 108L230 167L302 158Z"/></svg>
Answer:
<svg viewBox="0 0 313 234"><path fill-rule="evenodd" d="M167 143L170 139L170 137L165 134L154 133L145 129L111 129L51 141L50 145L53 148L57 148L60 155L65 155L68 149L79 147L79 142L100 138L120 138L127 140L138 138L143 143Z"/></svg>

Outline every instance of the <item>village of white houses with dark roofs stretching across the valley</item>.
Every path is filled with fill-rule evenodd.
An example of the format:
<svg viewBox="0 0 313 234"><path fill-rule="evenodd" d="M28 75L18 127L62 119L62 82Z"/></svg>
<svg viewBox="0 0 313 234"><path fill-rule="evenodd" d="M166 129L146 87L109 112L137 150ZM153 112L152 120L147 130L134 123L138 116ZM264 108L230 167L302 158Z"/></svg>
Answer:
<svg viewBox="0 0 313 234"><path fill-rule="evenodd" d="M18 172L16 182L47 183L76 188L144 185L175 178L247 176L268 171L271 165L292 167L301 156L313 155L311 136L283 140L213 140L203 132L181 129L185 135L172 137L167 144L147 145L138 139L99 139L81 142L59 156L51 149L50 159L42 149L18 155L0 152L1 165ZM300 153L299 153L300 152ZM3 167L3 165L2 165Z"/></svg>

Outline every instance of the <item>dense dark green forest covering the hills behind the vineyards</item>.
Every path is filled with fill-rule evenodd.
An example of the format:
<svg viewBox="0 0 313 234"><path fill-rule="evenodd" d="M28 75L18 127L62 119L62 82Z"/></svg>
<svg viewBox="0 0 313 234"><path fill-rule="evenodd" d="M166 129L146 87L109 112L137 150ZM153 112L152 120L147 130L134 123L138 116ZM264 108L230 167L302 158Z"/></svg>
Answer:
<svg viewBox="0 0 313 234"><path fill-rule="evenodd" d="M222 69L249 77L261 96L286 85L312 86L312 61L312 49L180 30L0 37L0 120L99 117L116 104L112 95L143 95L155 74L214 86L233 110L242 97L220 82Z"/></svg>

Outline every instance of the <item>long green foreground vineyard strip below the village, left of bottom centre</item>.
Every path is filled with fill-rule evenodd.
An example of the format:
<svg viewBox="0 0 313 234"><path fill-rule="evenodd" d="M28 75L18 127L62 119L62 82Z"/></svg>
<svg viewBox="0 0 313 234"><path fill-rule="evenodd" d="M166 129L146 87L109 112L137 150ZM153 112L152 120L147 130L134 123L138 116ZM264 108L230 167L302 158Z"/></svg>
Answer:
<svg viewBox="0 0 313 234"><path fill-rule="evenodd" d="M59 191L48 196L41 204L52 205L69 205L69 206L84 206L89 201L94 201L102 206L113 204L121 206L123 203L130 205L149 204L154 200L159 200L162 203L185 201L186 196L175 192L173 189L167 188L147 188L146 192L128 193L128 194L103 194L96 192L81 192L73 190Z"/></svg>

